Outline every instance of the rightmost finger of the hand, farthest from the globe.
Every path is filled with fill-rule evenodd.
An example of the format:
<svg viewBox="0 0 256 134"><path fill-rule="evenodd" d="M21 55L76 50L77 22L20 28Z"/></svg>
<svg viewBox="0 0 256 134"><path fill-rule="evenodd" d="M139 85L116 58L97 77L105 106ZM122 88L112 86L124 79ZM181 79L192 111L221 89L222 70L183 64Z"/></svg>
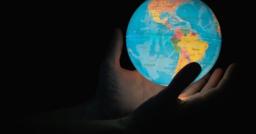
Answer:
<svg viewBox="0 0 256 134"><path fill-rule="evenodd" d="M217 88L225 88L226 86L228 86L228 82L230 82L230 79L235 78L237 75L238 71L238 65L236 63L232 63L228 69L226 69L226 72L224 73L223 78L221 79L221 81L219 82L219 84L217 85Z"/></svg>

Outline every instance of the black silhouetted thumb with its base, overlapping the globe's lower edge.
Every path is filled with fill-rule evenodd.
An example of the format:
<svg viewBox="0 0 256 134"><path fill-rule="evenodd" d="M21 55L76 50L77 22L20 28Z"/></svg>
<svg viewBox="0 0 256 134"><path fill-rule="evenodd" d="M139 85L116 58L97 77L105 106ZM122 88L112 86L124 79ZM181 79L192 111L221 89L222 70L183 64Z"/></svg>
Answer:
<svg viewBox="0 0 256 134"><path fill-rule="evenodd" d="M135 124L150 124L156 120L165 117L165 114L171 114L170 110L175 109L179 94L200 74L201 67L198 63L186 65L173 78L171 84L165 90L151 97L140 105L138 109L131 114L130 119Z"/></svg>

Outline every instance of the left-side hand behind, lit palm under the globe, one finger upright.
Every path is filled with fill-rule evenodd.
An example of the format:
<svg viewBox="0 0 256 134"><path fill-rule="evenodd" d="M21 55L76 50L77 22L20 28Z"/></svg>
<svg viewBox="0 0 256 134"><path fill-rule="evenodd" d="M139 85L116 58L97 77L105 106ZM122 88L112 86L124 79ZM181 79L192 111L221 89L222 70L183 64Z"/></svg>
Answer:
<svg viewBox="0 0 256 134"><path fill-rule="evenodd" d="M100 119L126 116L165 88L150 82L136 70L121 68L119 58L122 48L123 35L120 29L116 29L100 67L100 80L95 98L97 105L101 105L100 109L104 109L104 115Z"/></svg>

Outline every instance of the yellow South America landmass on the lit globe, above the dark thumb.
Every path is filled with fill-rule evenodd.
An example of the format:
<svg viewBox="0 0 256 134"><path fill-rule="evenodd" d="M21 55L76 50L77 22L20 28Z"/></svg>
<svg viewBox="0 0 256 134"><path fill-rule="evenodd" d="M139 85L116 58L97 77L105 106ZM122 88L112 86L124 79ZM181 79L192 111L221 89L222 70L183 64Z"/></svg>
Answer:
<svg viewBox="0 0 256 134"><path fill-rule="evenodd" d="M181 42L178 43L178 46L181 48L181 53L179 54L179 61L175 74L188 63L202 59L203 56L205 56L209 44L200 41L198 35L191 32L190 34L181 37Z"/></svg>

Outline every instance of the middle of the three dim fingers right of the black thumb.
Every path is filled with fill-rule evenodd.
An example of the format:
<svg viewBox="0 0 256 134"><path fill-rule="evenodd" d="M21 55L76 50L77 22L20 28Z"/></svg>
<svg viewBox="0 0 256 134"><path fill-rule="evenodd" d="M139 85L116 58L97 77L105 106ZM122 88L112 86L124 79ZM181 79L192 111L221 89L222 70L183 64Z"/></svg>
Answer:
<svg viewBox="0 0 256 134"><path fill-rule="evenodd" d="M213 71L213 74L211 75L211 77L209 78L208 82L205 84L201 92L207 92L210 89L215 88L219 81L221 80L222 76L223 69L215 69L215 71Z"/></svg>

